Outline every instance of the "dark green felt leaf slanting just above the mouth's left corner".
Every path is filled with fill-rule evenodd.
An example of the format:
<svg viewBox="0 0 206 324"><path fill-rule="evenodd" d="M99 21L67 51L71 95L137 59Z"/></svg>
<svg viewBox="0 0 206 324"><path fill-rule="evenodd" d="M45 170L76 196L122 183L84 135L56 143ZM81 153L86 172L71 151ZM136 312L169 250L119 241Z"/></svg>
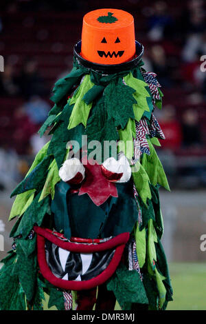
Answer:
<svg viewBox="0 0 206 324"><path fill-rule="evenodd" d="M23 236L23 239L25 239L25 237L32 230L35 223L38 226L41 226L45 214L49 211L50 199L49 196L47 196L42 201L38 202L40 195L41 192L37 194L34 201L32 201L30 207L28 207L25 213L23 214L19 223L19 227L14 233L14 236L18 236L19 234L21 234Z"/></svg>

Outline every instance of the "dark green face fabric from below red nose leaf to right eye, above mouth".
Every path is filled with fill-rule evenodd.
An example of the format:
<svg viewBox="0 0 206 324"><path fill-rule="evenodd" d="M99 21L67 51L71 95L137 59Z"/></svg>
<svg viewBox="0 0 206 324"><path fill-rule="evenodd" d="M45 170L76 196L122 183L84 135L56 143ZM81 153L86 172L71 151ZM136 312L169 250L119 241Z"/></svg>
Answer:
<svg viewBox="0 0 206 324"><path fill-rule="evenodd" d="M133 199L133 184L118 183L118 198L111 197L99 207L87 194L68 196L71 236L95 239L132 232L138 218ZM128 213L129 210L129 213Z"/></svg>

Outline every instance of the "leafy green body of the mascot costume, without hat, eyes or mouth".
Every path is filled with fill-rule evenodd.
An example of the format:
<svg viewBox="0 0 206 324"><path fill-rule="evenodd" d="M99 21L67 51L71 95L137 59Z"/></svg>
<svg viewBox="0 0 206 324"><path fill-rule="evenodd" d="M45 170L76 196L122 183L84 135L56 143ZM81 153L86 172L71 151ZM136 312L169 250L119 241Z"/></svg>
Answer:
<svg viewBox="0 0 206 324"><path fill-rule="evenodd" d="M11 237L13 249L3 259L0 272L1 310L43 310L45 293L49 307L64 310L62 291L43 278L36 258L36 235L33 226L47 227L71 236L95 239L130 232L135 241L137 269L119 263L107 282L123 310L133 303L148 305L149 310L165 310L172 300L168 265L161 245L163 221L159 205L159 186L169 190L154 145L155 133L148 133L148 150L134 159L137 126L144 120L150 128L155 105L149 84L144 79L142 61L132 70L101 74L85 68L74 59L73 69L54 86L54 107L40 134L49 126L52 139L36 155L25 179L12 192L16 200L10 219L16 217ZM68 100L69 96L69 100ZM67 142L82 135L88 142L132 141L124 154L136 168L128 183L117 183L118 197L109 197L97 206L87 194L69 194L69 184L61 181L58 170L67 159ZM89 151L88 151L89 153ZM109 152L110 156L113 154ZM137 271L138 270L138 271Z"/></svg>

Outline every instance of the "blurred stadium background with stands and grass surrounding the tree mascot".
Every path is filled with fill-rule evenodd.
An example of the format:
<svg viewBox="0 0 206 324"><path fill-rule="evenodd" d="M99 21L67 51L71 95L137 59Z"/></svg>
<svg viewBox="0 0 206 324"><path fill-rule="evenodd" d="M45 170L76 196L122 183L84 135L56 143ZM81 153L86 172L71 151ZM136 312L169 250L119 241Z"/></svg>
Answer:
<svg viewBox="0 0 206 324"><path fill-rule="evenodd" d="M52 108L54 82L71 70L83 15L98 8L126 10L133 14L136 39L145 47L145 68L157 73L164 93L163 110L156 117L166 136L158 153L172 190L161 190L163 245L174 287L168 309L205 310L204 1L1 0L0 6L0 257L11 245L10 192L49 141L36 132Z"/></svg>

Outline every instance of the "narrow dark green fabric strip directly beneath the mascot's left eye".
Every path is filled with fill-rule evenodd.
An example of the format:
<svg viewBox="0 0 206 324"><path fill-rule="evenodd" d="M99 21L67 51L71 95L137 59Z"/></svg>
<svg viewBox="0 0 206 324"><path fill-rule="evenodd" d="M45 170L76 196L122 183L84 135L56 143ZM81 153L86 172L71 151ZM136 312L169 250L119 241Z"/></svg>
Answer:
<svg viewBox="0 0 206 324"><path fill-rule="evenodd" d="M71 237L71 227L67 209L67 192L69 189L70 185L68 183L64 181L57 183L54 200L51 205L51 211L54 213L55 228L58 232L63 231L67 239Z"/></svg>

